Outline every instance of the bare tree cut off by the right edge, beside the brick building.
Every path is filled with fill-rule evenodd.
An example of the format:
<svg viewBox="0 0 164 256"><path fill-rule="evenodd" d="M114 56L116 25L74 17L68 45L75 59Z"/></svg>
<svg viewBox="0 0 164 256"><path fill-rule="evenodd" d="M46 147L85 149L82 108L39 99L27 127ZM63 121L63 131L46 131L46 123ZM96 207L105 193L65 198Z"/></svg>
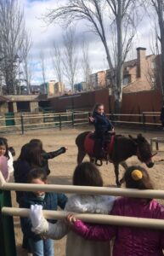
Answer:
<svg viewBox="0 0 164 256"><path fill-rule="evenodd" d="M156 10L160 29L160 35L158 35L158 39L160 40L161 44L161 90L164 101L164 2L163 0L150 0L150 3Z"/></svg>

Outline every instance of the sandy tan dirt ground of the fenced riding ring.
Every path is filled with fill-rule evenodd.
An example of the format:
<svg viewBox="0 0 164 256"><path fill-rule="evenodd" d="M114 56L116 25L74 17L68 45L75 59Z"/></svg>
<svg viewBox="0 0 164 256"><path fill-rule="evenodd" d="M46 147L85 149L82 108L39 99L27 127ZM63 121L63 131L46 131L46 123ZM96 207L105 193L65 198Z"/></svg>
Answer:
<svg viewBox="0 0 164 256"><path fill-rule="evenodd" d="M90 127L89 127L90 129ZM53 151L61 146L68 147L68 151L65 154L60 155L59 157L55 158L54 160L49 160L49 166L51 169L51 174L49 176L48 182L55 183L55 184L71 184L71 177L72 173L74 172L76 166L76 145L75 139L76 136L82 132L88 131L88 127L84 127L83 129L65 129L63 131L57 130L41 130L41 131L28 131L25 132L25 135L19 134L9 134L4 135L4 137L8 138L8 144L13 146L16 151L15 159L20 154L20 148L23 144L28 143L31 138L39 138L42 140L43 148L46 151ZM136 136L141 131L134 131L134 130L126 130L126 129L119 129L116 128L116 132L119 134L123 134L128 136L131 134ZM164 131L150 131L150 132L142 132L144 137L150 140L151 137L164 137ZM3 135L2 135L3 136ZM152 178L156 189L163 189L164 183L164 144L160 144L158 154L154 157L156 165L149 169L150 177ZM86 157L85 160L88 160ZM137 157L132 157L127 160L128 165L136 165L139 164L139 160ZM143 164L143 166L145 166ZM115 186L115 174L114 168L112 164L106 166L99 167L99 170L102 174L104 179L105 186L113 185ZM120 177L122 177L123 169L120 167ZM10 178L10 181L13 180L13 177ZM15 202L15 193L12 192L12 201L13 207L17 207ZM162 202L162 201L161 201ZM21 248L21 239L22 234L20 230L20 219L14 218L14 230L15 230L15 239L16 239L16 246L17 246L17 255L24 256L26 255L25 250ZM60 241L55 241L55 256L64 256L65 255L65 238L61 239Z"/></svg>

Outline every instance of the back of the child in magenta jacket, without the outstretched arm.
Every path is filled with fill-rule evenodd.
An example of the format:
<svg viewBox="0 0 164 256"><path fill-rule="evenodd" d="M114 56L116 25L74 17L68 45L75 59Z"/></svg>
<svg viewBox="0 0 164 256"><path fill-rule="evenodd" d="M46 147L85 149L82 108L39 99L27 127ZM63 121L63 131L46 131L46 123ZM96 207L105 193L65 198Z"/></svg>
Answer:
<svg viewBox="0 0 164 256"><path fill-rule="evenodd" d="M157 201L147 202L142 199L120 198L115 201L113 215L138 218L164 219L164 207ZM164 248L164 232L162 230L148 230L139 228L113 228L116 242L113 254L161 256ZM133 253L131 253L133 252Z"/></svg>

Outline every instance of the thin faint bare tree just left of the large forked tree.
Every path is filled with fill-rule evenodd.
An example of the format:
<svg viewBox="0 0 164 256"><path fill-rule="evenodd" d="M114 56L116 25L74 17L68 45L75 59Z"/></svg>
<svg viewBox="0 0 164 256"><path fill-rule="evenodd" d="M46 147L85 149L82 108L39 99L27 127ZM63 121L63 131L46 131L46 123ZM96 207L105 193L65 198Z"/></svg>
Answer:
<svg viewBox="0 0 164 256"><path fill-rule="evenodd" d="M89 46L84 38L82 40L82 72L84 81L86 82L86 90L90 90L91 84L89 76L91 74L91 67L89 61Z"/></svg>

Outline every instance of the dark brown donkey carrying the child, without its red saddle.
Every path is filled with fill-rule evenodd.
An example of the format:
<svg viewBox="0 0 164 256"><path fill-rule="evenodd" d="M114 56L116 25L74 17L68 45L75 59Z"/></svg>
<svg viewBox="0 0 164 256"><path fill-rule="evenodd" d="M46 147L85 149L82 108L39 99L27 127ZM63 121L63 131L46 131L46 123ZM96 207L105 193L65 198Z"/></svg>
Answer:
<svg viewBox="0 0 164 256"><path fill-rule="evenodd" d="M77 154L77 164L82 163L85 155L88 154L90 160L94 161L94 155L88 153L85 144L88 137L88 134L92 134L91 131L84 131L76 137L76 146L78 148ZM123 182L123 178L119 181L119 164L121 164L125 169L127 168L127 164L125 160L127 160L132 155L137 155L138 159L141 162L144 162L146 166L149 168L154 166L154 162L152 161L152 153L150 148L150 143L139 134L138 137L124 137L124 136L115 136L113 148L109 153L109 161L113 163L115 167L116 174L116 185L121 186Z"/></svg>

